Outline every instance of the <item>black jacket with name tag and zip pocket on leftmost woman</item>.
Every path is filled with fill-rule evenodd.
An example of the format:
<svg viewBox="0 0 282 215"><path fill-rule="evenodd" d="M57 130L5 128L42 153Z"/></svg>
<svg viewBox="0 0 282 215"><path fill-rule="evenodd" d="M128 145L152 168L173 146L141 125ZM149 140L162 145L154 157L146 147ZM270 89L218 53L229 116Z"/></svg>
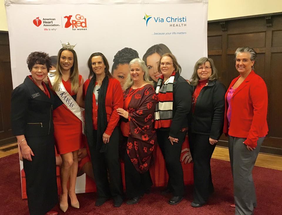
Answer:
<svg viewBox="0 0 282 215"><path fill-rule="evenodd" d="M46 85L47 86L47 85ZM11 125L15 136L46 136L53 134L54 96L49 87L50 98L31 79L12 91Z"/></svg>

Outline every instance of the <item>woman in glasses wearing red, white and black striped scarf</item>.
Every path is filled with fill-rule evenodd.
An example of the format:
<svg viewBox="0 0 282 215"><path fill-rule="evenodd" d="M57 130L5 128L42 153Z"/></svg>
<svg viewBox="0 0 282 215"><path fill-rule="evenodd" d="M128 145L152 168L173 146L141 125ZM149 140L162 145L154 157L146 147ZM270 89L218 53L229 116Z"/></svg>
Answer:
<svg viewBox="0 0 282 215"><path fill-rule="evenodd" d="M167 53L160 59L155 109L157 140L162 150L169 175L167 189L173 197L169 204L178 204L183 199L183 170L179 160L182 143L188 127L192 88L180 76L181 67L173 54Z"/></svg>

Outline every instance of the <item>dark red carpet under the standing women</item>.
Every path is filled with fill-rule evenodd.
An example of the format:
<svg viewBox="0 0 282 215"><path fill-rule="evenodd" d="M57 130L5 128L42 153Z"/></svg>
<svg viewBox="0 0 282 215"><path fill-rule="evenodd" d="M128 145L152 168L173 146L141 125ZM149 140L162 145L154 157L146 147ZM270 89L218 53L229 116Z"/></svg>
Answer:
<svg viewBox="0 0 282 215"><path fill-rule="evenodd" d="M0 158L0 202L2 215L28 215L27 201L21 199L21 183L18 154ZM282 214L282 171L255 167L253 171L258 198L256 215ZM145 196L136 205L122 204L114 208L112 201L101 207L95 207L95 193L78 194L80 209L69 208L59 214L234 214L232 178L230 164L227 161L212 159L212 176L215 192L208 204L201 208L192 208L192 186L186 188L186 196L178 205L167 204L169 195L161 195L159 188ZM58 205L54 208L58 209Z"/></svg>

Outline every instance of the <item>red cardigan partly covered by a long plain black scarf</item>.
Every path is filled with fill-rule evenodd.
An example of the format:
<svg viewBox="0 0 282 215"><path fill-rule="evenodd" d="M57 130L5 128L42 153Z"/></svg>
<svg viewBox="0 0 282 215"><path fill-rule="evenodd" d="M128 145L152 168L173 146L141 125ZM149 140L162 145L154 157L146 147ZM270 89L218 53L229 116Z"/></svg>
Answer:
<svg viewBox="0 0 282 215"><path fill-rule="evenodd" d="M85 98L88 85L90 80L87 79L83 84L83 98ZM97 82L95 83L97 84ZM120 120L120 115L117 114L117 108L123 107L123 92L120 86L120 82L117 79L109 78L106 98L105 98L105 106L107 113L108 126L105 130L105 133L108 135L112 135L114 128L117 126L118 121ZM95 94L93 93L93 128L97 130L97 113L98 107L96 105Z"/></svg>

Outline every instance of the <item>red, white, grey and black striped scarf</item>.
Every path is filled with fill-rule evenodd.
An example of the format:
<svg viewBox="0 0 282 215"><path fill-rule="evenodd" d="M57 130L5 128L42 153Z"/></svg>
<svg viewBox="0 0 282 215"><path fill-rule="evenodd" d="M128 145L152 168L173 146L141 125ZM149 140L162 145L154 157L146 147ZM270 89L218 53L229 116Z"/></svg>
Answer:
<svg viewBox="0 0 282 215"><path fill-rule="evenodd" d="M172 122L173 82L175 72L164 83L164 76L158 79L156 93L158 102L155 108L155 129L169 128Z"/></svg>

